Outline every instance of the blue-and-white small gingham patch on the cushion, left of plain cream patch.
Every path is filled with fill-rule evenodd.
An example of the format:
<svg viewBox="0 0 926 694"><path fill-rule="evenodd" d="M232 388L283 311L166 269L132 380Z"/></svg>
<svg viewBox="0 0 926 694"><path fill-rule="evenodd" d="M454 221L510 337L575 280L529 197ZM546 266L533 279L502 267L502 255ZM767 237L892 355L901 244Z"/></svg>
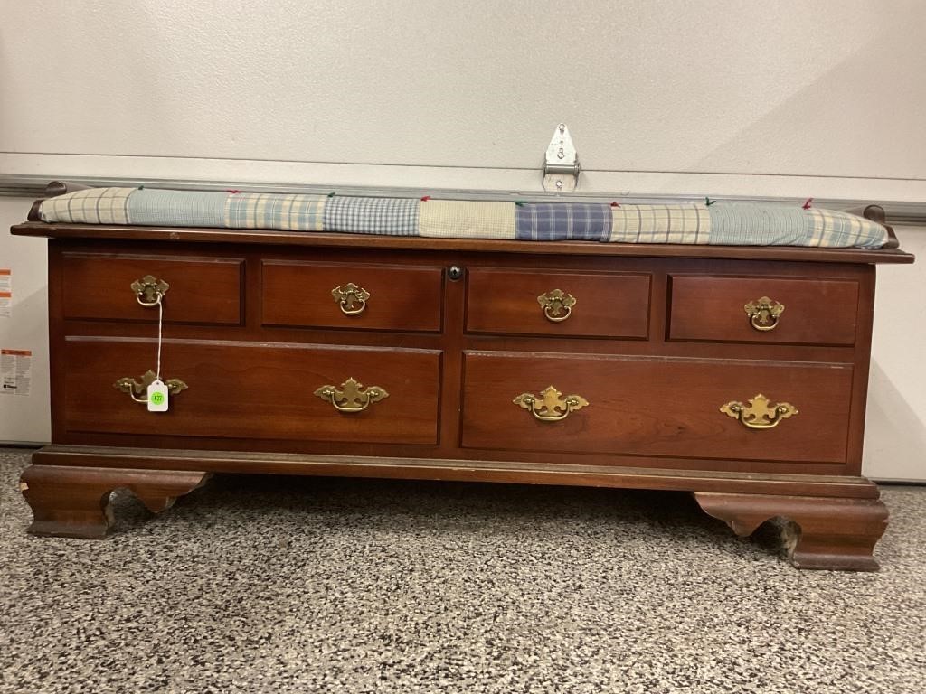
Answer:
<svg viewBox="0 0 926 694"><path fill-rule="evenodd" d="M336 195L324 206L324 230L356 234L418 236L418 198L360 198Z"/></svg>

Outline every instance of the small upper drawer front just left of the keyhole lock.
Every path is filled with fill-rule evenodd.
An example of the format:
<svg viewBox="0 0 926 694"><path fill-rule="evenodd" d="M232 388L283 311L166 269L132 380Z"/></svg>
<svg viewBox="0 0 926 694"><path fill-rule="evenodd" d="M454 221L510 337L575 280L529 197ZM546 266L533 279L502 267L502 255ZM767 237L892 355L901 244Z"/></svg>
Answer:
<svg viewBox="0 0 926 694"><path fill-rule="evenodd" d="M439 332L443 280L441 267L265 261L263 324Z"/></svg>

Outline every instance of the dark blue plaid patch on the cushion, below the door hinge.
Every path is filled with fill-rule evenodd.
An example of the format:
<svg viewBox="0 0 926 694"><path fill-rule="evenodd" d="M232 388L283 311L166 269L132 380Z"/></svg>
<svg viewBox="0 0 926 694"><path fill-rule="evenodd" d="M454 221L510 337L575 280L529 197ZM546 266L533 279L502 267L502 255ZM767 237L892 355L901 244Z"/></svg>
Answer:
<svg viewBox="0 0 926 694"><path fill-rule="evenodd" d="M519 241L608 241L607 204L527 203L517 207Z"/></svg>

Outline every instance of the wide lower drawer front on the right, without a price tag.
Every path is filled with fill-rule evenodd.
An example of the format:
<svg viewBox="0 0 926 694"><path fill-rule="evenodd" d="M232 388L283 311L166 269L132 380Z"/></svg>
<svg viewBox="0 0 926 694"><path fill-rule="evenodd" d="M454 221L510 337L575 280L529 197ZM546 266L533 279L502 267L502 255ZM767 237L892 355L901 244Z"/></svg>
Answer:
<svg viewBox="0 0 926 694"><path fill-rule="evenodd" d="M850 365L467 353L465 366L467 448L845 463ZM513 402L551 385L588 404L541 421ZM797 414L756 429L720 411L759 393Z"/></svg>

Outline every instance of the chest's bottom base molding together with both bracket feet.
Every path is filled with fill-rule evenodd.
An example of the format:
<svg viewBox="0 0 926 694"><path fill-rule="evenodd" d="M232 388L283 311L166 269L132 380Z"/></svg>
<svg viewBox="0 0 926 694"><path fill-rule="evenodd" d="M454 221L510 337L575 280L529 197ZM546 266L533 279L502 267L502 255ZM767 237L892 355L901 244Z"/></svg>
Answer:
<svg viewBox="0 0 926 694"><path fill-rule="evenodd" d="M783 549L797 568L875 571L887 527L880 492L864 477L717 473L519 462L295 453L47 446L32 456L21 489L35 535L102 539L109 494L127 488L152 512L219 473L375 477L689 491L739 536L783 519Z"/></svg>

